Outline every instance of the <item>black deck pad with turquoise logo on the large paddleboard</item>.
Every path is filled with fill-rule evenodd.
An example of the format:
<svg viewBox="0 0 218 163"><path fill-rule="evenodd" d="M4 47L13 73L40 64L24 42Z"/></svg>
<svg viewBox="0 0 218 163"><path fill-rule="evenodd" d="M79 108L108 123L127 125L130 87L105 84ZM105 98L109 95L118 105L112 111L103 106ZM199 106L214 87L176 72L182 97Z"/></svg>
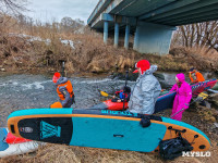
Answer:
<svg viewBox="0 0 218 163"><path fill-rule="evenodd" d="M55 143L70 143L73 133L71 117L26 118L20 121L19 126L22 137Z"/></svg>

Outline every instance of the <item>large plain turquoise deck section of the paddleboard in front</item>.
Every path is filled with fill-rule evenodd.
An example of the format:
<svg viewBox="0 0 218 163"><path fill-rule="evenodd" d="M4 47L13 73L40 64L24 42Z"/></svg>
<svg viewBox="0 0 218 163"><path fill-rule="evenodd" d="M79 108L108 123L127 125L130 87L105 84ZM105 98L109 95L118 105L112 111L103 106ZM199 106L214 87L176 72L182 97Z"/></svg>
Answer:
<svg viewBox="0 0 218 163"><path fill-rule="evenodd" d="M161 124L152 124L149 128L142 128L138 122L111 118L73 117L72 121L74 136L71 146L152 152L158 147L159 140L164 138L167 130L167 127Z"/></svg>

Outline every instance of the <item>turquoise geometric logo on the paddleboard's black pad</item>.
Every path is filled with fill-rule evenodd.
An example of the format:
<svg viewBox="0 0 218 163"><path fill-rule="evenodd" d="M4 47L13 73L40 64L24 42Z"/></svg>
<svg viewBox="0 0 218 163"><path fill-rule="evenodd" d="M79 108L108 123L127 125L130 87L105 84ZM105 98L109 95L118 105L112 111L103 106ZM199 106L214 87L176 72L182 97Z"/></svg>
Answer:
<svg viewBox="0 0 218 163"><path fill-rule="evenodd" d="M53 126L44 121L40 122L40 139L49 138L49 137L60 137L61 136L61 127Z"/></svg>

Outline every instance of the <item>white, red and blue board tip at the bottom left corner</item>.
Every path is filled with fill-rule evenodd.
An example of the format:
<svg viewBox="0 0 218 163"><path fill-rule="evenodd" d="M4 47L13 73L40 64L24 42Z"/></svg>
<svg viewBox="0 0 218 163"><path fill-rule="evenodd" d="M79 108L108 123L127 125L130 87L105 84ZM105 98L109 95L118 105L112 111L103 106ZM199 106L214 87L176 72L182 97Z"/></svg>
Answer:
<svg viewBox="0 0 218 163"><path fill-rule="evenodd" d="M8 128L0 128L0 158L33 152L38 149L40 143L14 136L7 141L8 135ZM15 139L12 140L12 137Z"/></svg>

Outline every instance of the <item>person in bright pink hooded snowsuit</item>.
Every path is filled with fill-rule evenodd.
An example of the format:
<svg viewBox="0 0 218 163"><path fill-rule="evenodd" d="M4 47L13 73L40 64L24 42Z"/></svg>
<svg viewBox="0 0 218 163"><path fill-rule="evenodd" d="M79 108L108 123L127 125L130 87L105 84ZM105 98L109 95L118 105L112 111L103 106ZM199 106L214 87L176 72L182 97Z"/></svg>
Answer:
<svg viewBox="0 0 218 163"><path fill-rule="evenodd" d="M171 116L182 109L183 109L183 111L175 114L171 118L177 120L177 121L181 121L182 120L182 113L184 112L184 110L189 109L189 104L190 104L190 101L192 99L192 88L185 82L185 76L182 73L178 74L175 76L175 82L177 82L177 84L174 84L172 86L171 90L170 90L170 91L174 91L174 90L177 91L177 95L175 95L174 101L173 101L173 108L172 108Z"/></svg>

